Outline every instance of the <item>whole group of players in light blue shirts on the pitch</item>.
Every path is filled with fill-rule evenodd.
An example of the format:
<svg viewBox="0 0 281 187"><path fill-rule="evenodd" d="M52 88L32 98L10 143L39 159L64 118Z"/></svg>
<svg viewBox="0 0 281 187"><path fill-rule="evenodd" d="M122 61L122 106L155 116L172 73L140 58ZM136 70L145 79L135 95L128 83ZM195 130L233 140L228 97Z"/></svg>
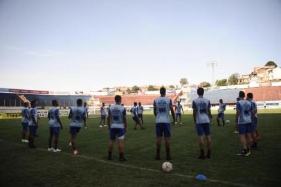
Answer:
<svg viewBox="0 0 281 187"><path fill-rule="evenodd" d="M180 102L177 105L172 105L172 100L165 97L166 89L162 87L160 89L161 96L154 100L154 115L156 116L156 157L155 159L160 160L161 152L161 139L164 136L165 139L165 150L166 150L166 159L172 159L170 155L170 136L171 136L171 123L170 123L170 112L172 114L172 125L176 125L177 118L181 122L181 111L183 112L183 107ZM192 109L193 109L193 119L195 127L197 130L197 135L199 136L199 148L200 154L199 159L210 159L211 156L211 140L210 140L210 122L212 121L211 114L211 105L210 100L203 97L204 89L197 89L198 98L193 100ZM237 102L237 114L235 116L235 126L239 131L239 140L242 143L243 150L237 155L248 156L251 154L250 148L257 148L257 136L255 134L255 129L257 125L257 105L253 101L253 94L247 94L247 100L244 100L245 93L243 91L239 92L239 101ZM107 124L109 129L110 141L108 148L108 159L112 159L112 150L114 147L114 141L116 137L118 138L118 147L119 147L119 160L127 161L127 158L124 156L124 138L127 132L127 109L122 103L121 96L115 96L114 98L116 104L109 105L106 108L105 103L102 103L100 107L101 121L100 127L107 127L105 125L105 120L107 116ZM217 115L217 123L219 123L219 118L222 118L223 125L224 121L224 111L226 110L226 105L222 100L219 100L219 114ZM28 109L28 103L24 103L24 108L22 109L22 142L28 143L29 148L36 148L34 145L34 140L37 127L38 127L38 113L37 113L37 101L33 100L30 103L30 108ZM52 101L52 107L48 111L49 125L50 125L50 136L48 140L48 151L60 152L61 150L57 148L58 139L60 130L63 128L60 121L60 112L57 109L58 103L57 100ZM174 107L176 109L176 114L174 112ZM137 125L140 125L142 130L145 130L143 127L143 106L141 103L134 103L134 106L130 110L133 120L136 122L134 130L136 130ZM77 107L71 107L69 112L70 123L70 134L71 142L69 145L73 148L73 154L78 154L78 148L76 147L76 136L82 125L87 129L86 119L88 117L88 107L87 103L84 103L81 99L77 100ZM29 127L29 137L26 140L26 132ZM204 143L203 136L205 135L208 153L204 152ZM52 146L53 137L55 137L54 146Z"/></svg>

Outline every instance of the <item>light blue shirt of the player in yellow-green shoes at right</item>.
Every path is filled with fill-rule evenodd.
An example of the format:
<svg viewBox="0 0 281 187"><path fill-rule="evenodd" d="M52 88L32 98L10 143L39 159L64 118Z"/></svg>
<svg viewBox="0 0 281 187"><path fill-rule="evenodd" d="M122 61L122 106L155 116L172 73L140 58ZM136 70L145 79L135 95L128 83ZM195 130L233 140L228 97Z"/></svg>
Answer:
<svg viewBox="0 0 281 187"><path fill-rule="evenodd" d="M240 112L238 116L238 124L252 123L251 111L253 111L253 106L248 100L239 100L236 103L236 110Z"/></svg>

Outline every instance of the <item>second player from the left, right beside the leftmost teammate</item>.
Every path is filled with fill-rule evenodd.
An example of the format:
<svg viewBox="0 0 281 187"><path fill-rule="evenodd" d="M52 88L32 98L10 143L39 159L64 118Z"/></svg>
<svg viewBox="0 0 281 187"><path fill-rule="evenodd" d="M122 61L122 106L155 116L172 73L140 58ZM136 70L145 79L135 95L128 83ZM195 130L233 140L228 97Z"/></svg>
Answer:
<svg viewBox="0 0 281 187"><path fill-rule="evenodd" d="M30 103L31 107L28 110L28 115L29 115L29 121L28 121L28 126L29 126L29 143L28 147L31 149L37 148L34 145L34 139L36 136L37 128L38 128L38 112L37 112L37 100L33 100Z"/></svg>

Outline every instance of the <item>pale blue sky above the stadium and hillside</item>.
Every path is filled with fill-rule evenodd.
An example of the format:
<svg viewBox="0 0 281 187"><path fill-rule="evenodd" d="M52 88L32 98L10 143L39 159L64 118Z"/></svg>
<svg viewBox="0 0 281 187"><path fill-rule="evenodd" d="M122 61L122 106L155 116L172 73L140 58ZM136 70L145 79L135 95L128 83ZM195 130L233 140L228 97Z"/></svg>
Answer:
<svg viewBox="0 0 281 187"><path fill-rule="evenodd" d="M0 0L0 87L93 91L281 66L281 0Z"/></svg>

